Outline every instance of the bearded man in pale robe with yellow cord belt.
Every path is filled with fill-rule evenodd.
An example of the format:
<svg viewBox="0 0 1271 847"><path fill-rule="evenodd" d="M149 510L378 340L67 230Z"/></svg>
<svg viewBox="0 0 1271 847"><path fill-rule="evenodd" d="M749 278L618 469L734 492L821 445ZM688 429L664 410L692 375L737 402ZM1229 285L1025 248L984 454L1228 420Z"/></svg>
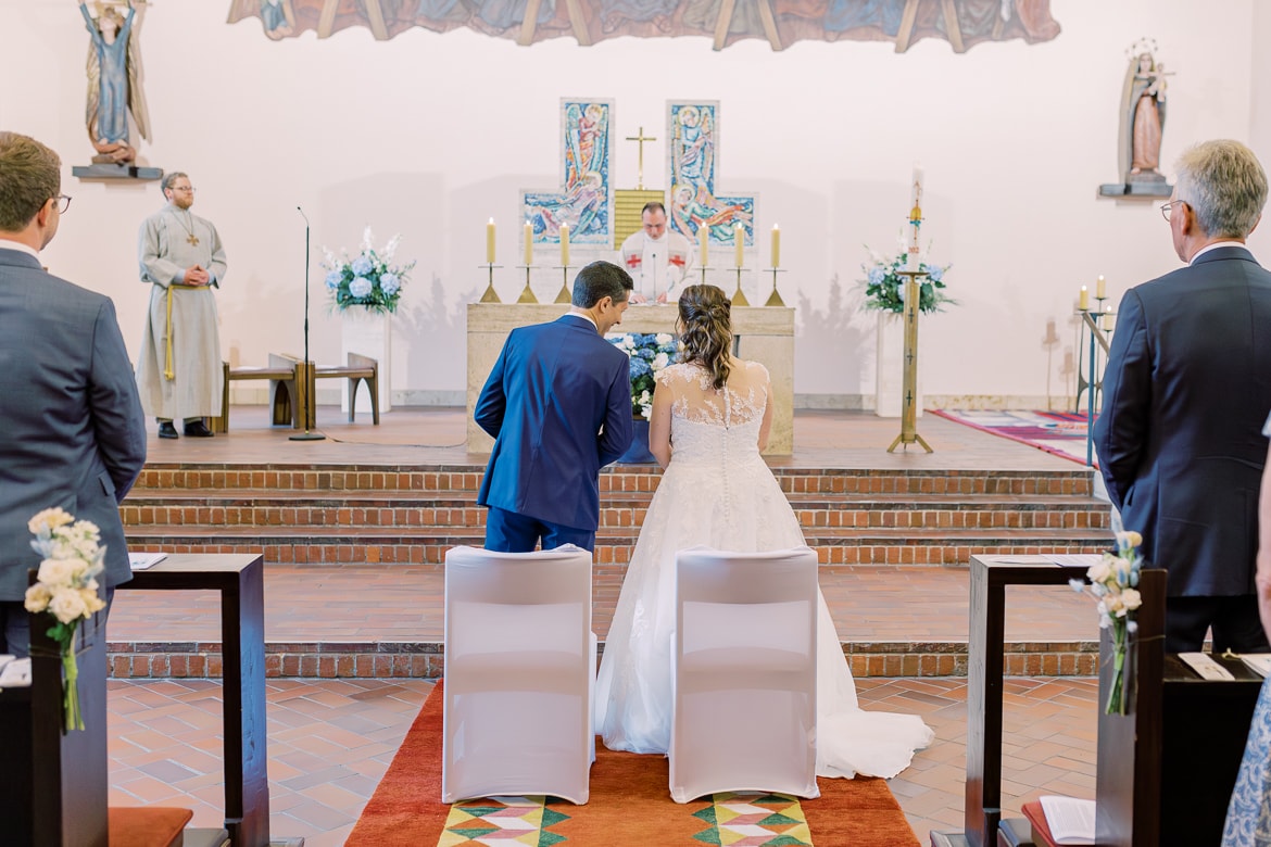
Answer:
<svg viewBox="0 0 1271 847"><path fill-rule="evenodd" d="M225 248L216 227L191 213L194 189L175 171L163 179L168 204L141 225L141 281L151 283L137 385L141 405L159 420L160 438L207 438L203 418L221 414L221 342L212 288L225 278Z"/></svg>

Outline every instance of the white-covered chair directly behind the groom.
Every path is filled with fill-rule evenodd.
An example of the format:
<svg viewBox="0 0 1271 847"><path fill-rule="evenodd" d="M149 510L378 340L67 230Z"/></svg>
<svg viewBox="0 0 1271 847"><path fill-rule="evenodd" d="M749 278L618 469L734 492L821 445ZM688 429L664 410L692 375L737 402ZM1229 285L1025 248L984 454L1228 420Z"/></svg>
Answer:
<svg viewBox="0 0 1271 847"><path fill-rule="evenodd" d="M446 551L441 800L583 804L596 758L591 554Z"/></svg>

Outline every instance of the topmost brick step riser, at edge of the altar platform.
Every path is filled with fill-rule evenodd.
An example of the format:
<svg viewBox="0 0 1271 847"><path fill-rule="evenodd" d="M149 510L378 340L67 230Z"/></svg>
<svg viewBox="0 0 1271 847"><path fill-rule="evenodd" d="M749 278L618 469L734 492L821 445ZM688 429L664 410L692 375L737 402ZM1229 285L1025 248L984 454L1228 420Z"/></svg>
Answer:
<svg viewBox="0 0 1271 847"><path fill-rule="evenodd" d="M337 465L146 465L133 489L137 495L172 489L196 490L308 490L330 495L350 491L477 491L484 465L337 466ZM787 494L998 494L1089 497L1089 470L866 470L792 469L774 466ZM649 466L619 466L600 474L600 490L652 491L661 471Z"/></svg>

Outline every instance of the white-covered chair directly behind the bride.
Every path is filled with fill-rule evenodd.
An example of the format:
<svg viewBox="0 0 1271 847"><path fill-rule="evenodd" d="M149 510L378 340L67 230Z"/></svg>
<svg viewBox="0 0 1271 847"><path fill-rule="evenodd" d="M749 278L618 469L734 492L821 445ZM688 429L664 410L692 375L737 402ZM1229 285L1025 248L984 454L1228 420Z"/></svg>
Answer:
<svg viewBox="0 0 1271 847"><path fill-rule="evenodd" d="M820 796L816 551L676 554L671 797Z"/></svg>

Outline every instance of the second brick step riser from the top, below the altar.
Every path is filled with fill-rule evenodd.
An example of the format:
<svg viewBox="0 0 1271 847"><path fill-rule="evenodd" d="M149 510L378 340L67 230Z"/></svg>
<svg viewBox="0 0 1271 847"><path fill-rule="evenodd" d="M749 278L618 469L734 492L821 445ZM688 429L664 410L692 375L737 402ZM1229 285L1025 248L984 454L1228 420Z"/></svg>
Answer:
<svg viewBox="0 0 1271 847"><path fill-rule="evenodd" d="M601 498L601 532L642 526L648 493L609 493ZM1106 503L1082 497L904 495L826 497L788 494L799 523L808 527L913 528L1104 528ZM480 527L486 509L475 494L438 497L423 491L315 491L221 489L133 491L121 507L125 526L285 526L285 527Z"/></svg>

